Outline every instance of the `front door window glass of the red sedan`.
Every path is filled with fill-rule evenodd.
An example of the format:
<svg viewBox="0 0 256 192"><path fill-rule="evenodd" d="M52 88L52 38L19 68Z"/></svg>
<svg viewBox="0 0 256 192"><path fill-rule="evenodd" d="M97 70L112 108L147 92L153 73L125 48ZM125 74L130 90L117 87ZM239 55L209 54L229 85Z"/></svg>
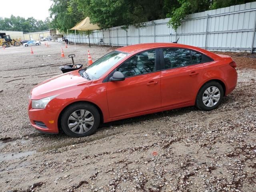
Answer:
<svg viewBox="0 0 256 192"><path fill-rule="evenodd" d="M121 64L116 70L122 72L125 77L154 72L156 71L156 50L139 53Z"/></svg>

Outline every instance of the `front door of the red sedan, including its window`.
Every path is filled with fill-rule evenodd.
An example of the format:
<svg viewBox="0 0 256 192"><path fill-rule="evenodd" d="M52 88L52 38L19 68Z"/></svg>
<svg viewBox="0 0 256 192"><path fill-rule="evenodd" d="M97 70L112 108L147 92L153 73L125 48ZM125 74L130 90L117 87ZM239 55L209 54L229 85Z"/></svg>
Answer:
<svg viewBox="0 0 256 192"><path fill-rule="evenodd" d="M160 108L159 59L156 50L139 53L122 63L117 71L124 81L108 82L107 97L110 118L117 118Z"/></svg>

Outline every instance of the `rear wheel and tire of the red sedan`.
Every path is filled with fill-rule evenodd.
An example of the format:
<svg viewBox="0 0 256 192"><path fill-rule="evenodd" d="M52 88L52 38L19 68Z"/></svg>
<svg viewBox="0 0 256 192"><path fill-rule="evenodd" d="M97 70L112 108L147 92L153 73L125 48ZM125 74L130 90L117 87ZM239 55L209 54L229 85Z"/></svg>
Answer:
<svg viewBox="0 0 256 192"><path fill-rule="evenodd" d="M196 107L204 111L214 110L221 104L223 97L224 91L220 83L207 82L200 88L196 96Z"/></svg>

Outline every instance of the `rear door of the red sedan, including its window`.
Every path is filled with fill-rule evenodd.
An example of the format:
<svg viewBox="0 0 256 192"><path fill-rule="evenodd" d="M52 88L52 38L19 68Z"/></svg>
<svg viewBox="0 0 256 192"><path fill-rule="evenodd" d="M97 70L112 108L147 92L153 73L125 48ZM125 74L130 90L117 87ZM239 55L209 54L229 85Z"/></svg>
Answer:
<svg viewBox="0 0 256 192"><path fill-rule="evenodd" d="M183 48L161 51L161 105L193 104L202 81L202 54Z"/></svg>

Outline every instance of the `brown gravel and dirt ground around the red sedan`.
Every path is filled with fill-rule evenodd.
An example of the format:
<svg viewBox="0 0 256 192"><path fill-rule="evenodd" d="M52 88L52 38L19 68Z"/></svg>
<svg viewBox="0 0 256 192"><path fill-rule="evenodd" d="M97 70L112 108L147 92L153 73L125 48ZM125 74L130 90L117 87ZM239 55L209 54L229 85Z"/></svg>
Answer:
<svg viewBox="0 0 256 192"><path fill-rule="evenodd" d="M102 46L49 42L0 48L0 191L4 192L256 192L256 58L231 55L236 89L204 112L188 107L104 124L92 136L69 138L35 130L30 90L110 52ZM250 56L250 57L249 57Z"/></svg>

